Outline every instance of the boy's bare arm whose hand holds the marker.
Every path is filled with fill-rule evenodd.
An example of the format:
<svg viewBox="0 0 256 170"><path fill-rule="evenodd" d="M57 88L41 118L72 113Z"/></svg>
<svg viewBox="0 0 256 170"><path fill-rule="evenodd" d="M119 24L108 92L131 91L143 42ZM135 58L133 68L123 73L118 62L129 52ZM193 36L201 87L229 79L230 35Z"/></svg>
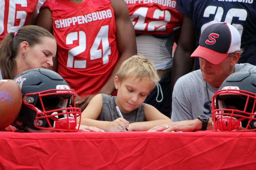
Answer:
<svg viewBox="0 0 256 170"><path fill-rule="evenodd" d="M122 131L125 130L125 128L128 128L129 122L121 117L112 122L97 120L101 113L101 109L102 96L101 94L98 94L92 98L88 106L82 112L81 124L87 126L95 126L104 131Z"/></svg>

